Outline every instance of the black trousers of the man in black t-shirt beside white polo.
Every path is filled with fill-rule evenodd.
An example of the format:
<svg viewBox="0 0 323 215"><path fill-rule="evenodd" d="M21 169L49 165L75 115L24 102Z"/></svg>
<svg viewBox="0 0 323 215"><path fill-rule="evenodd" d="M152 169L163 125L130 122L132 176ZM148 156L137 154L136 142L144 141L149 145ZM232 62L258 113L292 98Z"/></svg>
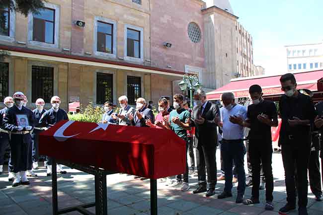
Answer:
<svg viewBox="0 0 323 215"><path fill-rule="evenodd" d="M271 140L249 140L249 157L252 166L252 191L251 196L259 199L260 169L262 164L263 173L266 179L266 201L272 202L274 190L274 178L272 175L272 143Z"/></svg>

